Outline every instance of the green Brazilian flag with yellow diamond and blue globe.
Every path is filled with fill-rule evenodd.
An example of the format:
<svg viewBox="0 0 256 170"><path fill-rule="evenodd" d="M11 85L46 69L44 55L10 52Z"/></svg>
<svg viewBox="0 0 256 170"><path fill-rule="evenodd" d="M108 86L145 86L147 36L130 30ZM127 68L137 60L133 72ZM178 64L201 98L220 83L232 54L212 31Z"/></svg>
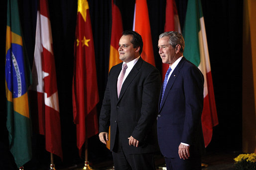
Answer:
<svg viewBox="0 0 256 170"><path fill-rule="evenodd" d="M24 55L17 0L7 1L5 91L9 149L17 167L31 160L28 86L31 71Z"/></svg>

